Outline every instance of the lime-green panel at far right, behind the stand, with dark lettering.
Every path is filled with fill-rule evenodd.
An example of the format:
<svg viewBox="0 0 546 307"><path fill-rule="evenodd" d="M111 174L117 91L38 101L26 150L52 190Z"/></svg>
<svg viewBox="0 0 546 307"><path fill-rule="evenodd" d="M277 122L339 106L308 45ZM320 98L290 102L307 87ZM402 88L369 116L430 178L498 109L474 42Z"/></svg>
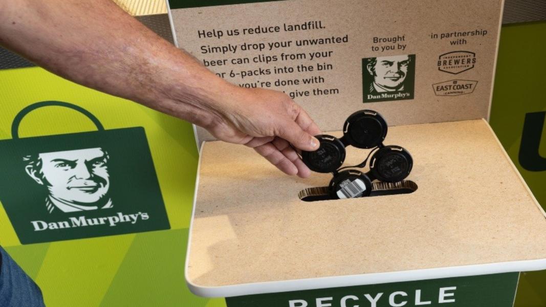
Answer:
<svg viewBox="0 0 546 307"><path fill-rule="evenodd" d="M508 155L531 188L538 202L546 208L546 170L540 170L539 158L546 157L546 130L530 125L533 113L546 111L544 85L546 78L546 22L503 26L498 52L495 89L491 107L491 127ZM521 158L520 143L527 118L526 137L542 135L538 150L527 150ZM526 152L525 148L524 151ZM524 160L524 161L522 161ZM526 160L526 161L525 161ZM524 164L526 168L522 166ZM537 169L535 171L529 169ZM546 306L546 271L521 274L517 307Z"/></svg>

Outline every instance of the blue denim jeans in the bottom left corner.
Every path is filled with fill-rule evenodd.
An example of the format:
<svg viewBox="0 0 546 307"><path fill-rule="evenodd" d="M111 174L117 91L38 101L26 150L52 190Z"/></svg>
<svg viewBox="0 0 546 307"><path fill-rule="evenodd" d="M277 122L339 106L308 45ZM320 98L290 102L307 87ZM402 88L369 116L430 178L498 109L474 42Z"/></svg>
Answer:
<svg viewBox="0 0 546 307"><path fill-rule="evenodd" d="M0 306L43 307L40 288L0 246Z"/></svg>

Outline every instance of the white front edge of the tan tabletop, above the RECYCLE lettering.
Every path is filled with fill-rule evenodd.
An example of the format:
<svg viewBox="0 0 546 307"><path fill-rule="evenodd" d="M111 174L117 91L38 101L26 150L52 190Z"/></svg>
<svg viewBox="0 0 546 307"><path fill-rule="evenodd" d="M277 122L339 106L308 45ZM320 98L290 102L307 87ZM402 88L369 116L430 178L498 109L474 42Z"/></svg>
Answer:
<svg viewBox="0 0 546 307"><path fill-rule="evenodd" d="M446 268L369 273L310 279L256 282L229 286L199 286L188 281L189 290L201 297L236 297L251 294L317 290L324 288L365 286L391 282L419 281L464 276L535 271L546 269L546 259L461 265Z"/></svg>

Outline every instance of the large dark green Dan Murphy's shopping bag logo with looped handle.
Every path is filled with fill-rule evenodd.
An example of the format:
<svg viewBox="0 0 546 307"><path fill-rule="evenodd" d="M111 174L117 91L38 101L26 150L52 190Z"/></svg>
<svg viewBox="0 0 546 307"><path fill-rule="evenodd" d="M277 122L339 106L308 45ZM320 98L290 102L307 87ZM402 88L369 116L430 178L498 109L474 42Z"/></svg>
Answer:
<svg viewBox="0 0 546 307"><path fill-rule="evenodd" d="M33 110L79 111L98 131L19 138ZM0 140L0 202L22 244L169 229L143 127L106 130L77 105L46 101Z"/></svg>

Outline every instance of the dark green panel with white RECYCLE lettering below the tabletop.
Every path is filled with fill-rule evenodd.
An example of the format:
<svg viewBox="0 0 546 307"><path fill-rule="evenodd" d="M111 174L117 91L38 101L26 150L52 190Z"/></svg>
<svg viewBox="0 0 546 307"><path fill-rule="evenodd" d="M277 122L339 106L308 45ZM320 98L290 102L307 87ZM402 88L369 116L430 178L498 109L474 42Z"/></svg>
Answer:
<svg viewBox="0 0 546 307"><path fill-rule="evenodd" d="M511 307L518 273L394 282L227 298L228 307Z"/></svg>

